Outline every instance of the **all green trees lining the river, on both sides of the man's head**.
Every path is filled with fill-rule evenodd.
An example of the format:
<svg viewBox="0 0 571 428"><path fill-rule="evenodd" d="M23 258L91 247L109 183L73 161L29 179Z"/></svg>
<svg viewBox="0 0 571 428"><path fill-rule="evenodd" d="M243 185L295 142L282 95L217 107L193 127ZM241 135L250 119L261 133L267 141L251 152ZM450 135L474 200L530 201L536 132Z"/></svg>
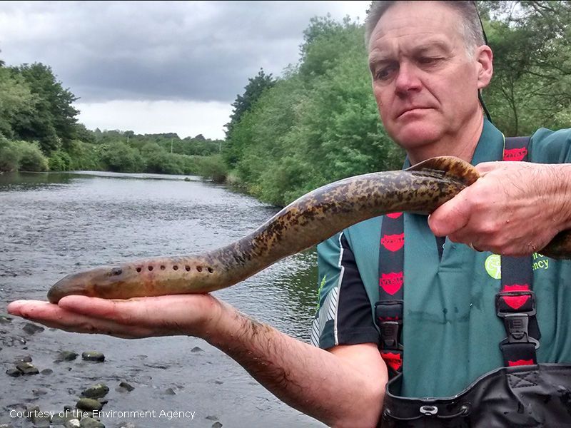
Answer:
<svg viewBox="0 0 571 428"><path fill-rule="evenodd" d="M571 2L477 4L495 54L483 93L495 125L506 136L570 127ZM363 33L350 19L312 19L297 64L248 80L225 141L89 131L49 67L0 62L0 170L198 173L285 205L333 180L400 168L404 153L378 118Z"/></svg>

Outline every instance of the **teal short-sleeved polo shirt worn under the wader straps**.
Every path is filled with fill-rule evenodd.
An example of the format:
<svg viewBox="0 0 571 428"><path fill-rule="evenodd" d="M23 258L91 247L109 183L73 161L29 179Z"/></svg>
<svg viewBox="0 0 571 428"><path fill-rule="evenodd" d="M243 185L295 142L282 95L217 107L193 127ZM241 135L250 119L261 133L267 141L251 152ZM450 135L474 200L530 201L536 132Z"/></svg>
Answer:
<svg viewBox="0 0 571 428"><path fill-rule="evenodd" d="M473 165L502 158L504 137L488 121L473 156ZM530 141L530 161L571 162L571 130L540 129ZM371 300L378 300L380 219L373 218L343 231ZM403 386L405 397L447 397L490 370L502 366L498 344L506 337L495 315L500 290L499 256L477 253L445 241L442 260L427 216L405 214L405 310ZM335 293L335 235L318 246L320 302ZM491 256L491 257L490 257ZM571 362L571 262L533 255L533 290L542 338L538 362ZM323 278L325 277L325 280ZM331 311L330 305L327 307ZM334 311L333 311L334 312ZM321 316L322 337L335 337ZM372 315L372 310L371 310ZM315 327L315 326L314 326ZM321 347L338 345L320 340Z"/></svg>

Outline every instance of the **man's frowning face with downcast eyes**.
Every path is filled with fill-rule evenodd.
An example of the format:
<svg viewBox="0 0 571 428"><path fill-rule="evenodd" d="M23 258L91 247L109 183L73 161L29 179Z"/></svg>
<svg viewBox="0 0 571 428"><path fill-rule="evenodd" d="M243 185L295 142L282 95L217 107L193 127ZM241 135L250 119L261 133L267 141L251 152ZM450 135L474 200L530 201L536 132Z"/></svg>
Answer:
<svg viewBox="0 0 571 428"><path fill-rule="evenodd" d="M373 31L373 92L385 129L405 150L457 136L480 109L477 88L484 85L459 20L438 1L403 1Z"/></svg>

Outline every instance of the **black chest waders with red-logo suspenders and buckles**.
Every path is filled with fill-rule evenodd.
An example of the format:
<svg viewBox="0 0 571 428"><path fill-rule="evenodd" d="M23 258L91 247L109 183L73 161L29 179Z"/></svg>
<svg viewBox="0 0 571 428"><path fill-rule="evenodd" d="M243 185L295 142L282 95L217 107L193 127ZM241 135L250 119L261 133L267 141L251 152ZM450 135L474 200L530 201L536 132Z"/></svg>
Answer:
<svg viewBox="0 0 571 428"><path fill-rule="evenodd" d="M529 138L506 138L504 161L526 161ZM540 330L535 317L531 256L501 256L495 314L504 323L504 367L488 372L454 397L400 397L404 313L404 220L385 215L379 253L375 323L380 355L390 373L380 425L393 427L571 427L571 365L537 364Z"/></svg>

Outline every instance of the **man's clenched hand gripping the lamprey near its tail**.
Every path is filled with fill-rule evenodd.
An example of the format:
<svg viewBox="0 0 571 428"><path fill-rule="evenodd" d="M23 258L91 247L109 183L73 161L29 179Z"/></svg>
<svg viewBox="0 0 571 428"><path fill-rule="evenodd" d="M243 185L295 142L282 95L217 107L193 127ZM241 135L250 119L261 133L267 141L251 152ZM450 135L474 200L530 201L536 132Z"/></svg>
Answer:
<svg viewBox="0 0 571 428"><path fill-rule="evenodd" d="M435 210L437 236L479 251L529 255L571 228L571 165L487 162L481 177Z"/></svg>

